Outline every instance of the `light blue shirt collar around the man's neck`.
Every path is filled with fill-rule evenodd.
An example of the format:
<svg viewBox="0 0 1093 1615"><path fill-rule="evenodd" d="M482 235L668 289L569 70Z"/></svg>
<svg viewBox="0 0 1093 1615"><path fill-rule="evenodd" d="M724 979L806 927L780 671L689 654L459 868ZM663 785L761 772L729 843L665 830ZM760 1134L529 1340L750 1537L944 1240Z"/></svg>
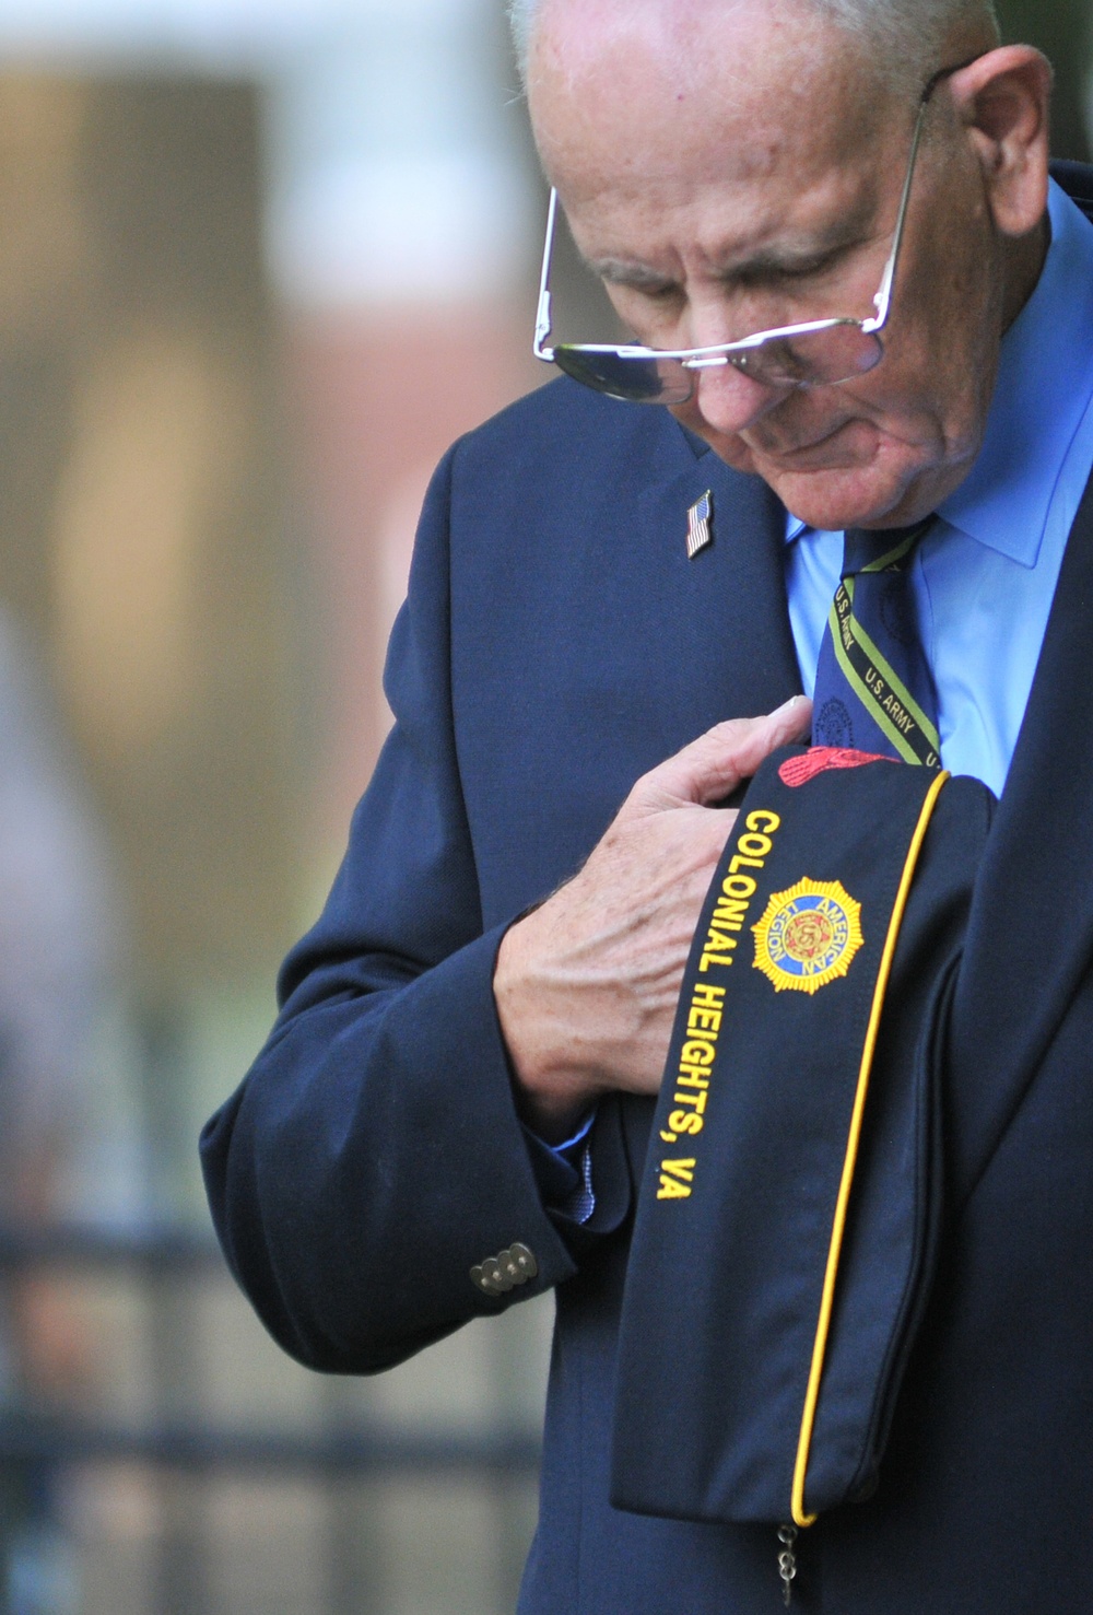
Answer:
<svg viewBox="0 0 1093 1615"><path fill-rule="evenodd" d="M1025 567L1093 397L1093 224L1053 179L1051 245L1036 287L1003 338L983 446L938 515ZM786 539L807 523L789 517Z"/></svg>

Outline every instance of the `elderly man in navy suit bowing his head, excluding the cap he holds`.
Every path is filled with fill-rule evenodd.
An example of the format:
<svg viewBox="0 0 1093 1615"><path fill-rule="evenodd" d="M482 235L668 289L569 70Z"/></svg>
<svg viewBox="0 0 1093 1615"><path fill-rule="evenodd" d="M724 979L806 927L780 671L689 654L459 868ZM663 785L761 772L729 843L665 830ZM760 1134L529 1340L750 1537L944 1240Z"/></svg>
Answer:
<svg viewBox="0 0 1093 1615"><path fill-rule="evenodd" d="M515 24L544 166L633 339L551 347L544 297L538 350L568 378L438 473L394 735L207 1129L221 1239L283 1345L336 1371L557 1286L521 1610L1085 1610L1091 176L1049 182L1049 68L999 48L985 0L525 0ZM851 564L870 533L886 554ZM906 588L877 596L852 688L878 568ZM906 673L870 709L882 633ZM718 804L806 736L814 685L819 743L925 766L901 782L940 751L999 804L880 1483L794 1539L762 1510L634 1500L615 1403ZM686 1266L731 1324L718 1255ZM715 1371L673 1394L718 1426ZM651 1424L670 1412L651 1399Z"/></svg>

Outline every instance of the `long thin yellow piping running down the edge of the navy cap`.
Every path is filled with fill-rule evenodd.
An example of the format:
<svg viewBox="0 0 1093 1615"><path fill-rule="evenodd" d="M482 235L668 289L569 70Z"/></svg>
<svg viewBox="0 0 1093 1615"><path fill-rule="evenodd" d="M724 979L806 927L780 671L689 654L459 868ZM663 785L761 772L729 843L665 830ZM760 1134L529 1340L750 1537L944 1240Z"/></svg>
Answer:
<svg viewBox="0 0 1093 1615"><path fill-rule="evenodd" d="M820 1378L823 1374L823 1355L827 1352L827 1337L831 1326L831 1308L835 1305L835 1281L838 1277L840 1255L843 1250L843 1234L846 1232L846 1208L851 1198L851 1185L854 1182L854 1168L857 1164L857 1147L862 1135L862 1118L865 1114L865 1095L869 1092L869 1077L873 1068L873 1053L877 1050L877 1032L880 1029L880 1013L885 1005L885 993L888 990L888 977L891 975L891 961L896 953L896 940L899 937L899 927L902 925L904 909L907 908L907 893L911 891L911 882L914 880L915 866L919 862L919 853L922 851L922 841L927 833L927 827L933 816L938 796L943 787L951 778L948 772L938 774L938 777L930 785L925 801L922 804L922 812L919 814L919 824L911 838L911 846L907 848L907 858L904 861L902 875L899 879L899 888L896 891L896 903L891 911L891 919L888 922L888 935L885 937L885 948L880 956L880 969L877 972L877 985L873 988L873 1003L869 1013L869 1026L865 1027L865 1047L862 1048L862 1063L857 1072L857 1092L854 1095L854 1110L851 1113L851 1130L846 1140L846 1158L843 1161L843 1177L840 1182L838 1200L835 1202L835 1221L831 1224L831 1244L827 1253L827 1271L823 1274L823 1295L820 1298L820 1316L815 1328L815 1344L812 1347L812 1368L809 1371L809 1389L804 1397L804 1415L801 1418L801 1437L798 1441L798 1462L793 1470L793 1520L794 1525L809 1526L815 1523L815 1515L804 1512L804 1481L809 1470L809 1450L812 1447L812 1426L815 1423L815 1408L820 1400Z"/></svg>

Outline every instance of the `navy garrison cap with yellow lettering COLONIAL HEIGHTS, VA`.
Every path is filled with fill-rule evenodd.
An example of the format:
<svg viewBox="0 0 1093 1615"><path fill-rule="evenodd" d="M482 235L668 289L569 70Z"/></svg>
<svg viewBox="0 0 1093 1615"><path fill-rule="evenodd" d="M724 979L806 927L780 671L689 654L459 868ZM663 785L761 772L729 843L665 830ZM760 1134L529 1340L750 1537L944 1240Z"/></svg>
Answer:
<svg viewBox="0 0 1093 1615"><path fill-rule="evenodd" d="M694 937L623 1300L612 1502L809 1525L875 1487L941 1214L941 1047L995 798L793 746Z"/></svg>

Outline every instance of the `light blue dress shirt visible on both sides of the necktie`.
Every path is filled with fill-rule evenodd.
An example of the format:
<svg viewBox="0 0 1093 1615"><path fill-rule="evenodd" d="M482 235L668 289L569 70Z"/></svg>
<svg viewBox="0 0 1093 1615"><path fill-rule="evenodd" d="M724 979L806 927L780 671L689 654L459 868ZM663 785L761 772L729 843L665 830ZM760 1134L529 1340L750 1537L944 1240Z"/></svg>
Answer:
<svg viewBox="0 0 1093 1615"><path fill-rule="evenodd" d="M1093 465L1093 224L1054 181L1048 207L1051 247L1003 338L983 447L938 505L911 573L938 691L941 761L996 795ZM843 535L789 517L786 541L793 641L812 694Z"/></svg>

